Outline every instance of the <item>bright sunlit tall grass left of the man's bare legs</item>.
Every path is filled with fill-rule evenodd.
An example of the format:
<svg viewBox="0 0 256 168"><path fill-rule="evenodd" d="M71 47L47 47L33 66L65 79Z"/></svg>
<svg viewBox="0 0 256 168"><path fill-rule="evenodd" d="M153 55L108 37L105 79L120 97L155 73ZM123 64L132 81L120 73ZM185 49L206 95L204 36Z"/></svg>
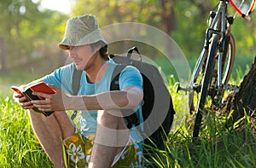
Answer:
<svg viewBox="0 0 256 168"><path fill-rule="evenodd" d="M0 97L0 167L52 167L32 133L27 113L12 99Z"/></svg>

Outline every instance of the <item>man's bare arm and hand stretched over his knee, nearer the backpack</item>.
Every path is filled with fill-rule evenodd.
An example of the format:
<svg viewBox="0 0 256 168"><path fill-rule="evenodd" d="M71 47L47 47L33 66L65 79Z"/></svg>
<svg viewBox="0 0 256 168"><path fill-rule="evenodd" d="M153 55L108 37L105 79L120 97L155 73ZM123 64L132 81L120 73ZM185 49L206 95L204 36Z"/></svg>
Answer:
<svg viewBox="0 0 256 168"><path fill-rule="evenodd" d="M132 109L143 100L143 90L137 87L126 87L124 90L107 91L92 96L67 96L55 86L51 88L56 90L53 95L34 93L46 98L31 101L34 107L42 111Z"/></svg>

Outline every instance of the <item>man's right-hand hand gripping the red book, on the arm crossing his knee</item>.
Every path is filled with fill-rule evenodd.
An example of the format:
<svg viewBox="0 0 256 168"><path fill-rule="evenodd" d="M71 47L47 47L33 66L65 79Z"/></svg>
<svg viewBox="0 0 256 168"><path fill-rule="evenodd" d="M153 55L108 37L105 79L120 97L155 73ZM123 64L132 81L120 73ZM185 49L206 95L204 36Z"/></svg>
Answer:
<svg viewBox="0 0 256 168"><path fill-rule="evenodd" d="M39 110L44 112L49 111L62 111L65 110L65 102L67 102L68 96L57 88L55 85L49 85L49 87L56 91L55 94L45 94L41 92L33 92L35 96L44 97L44 100L31 101L34 107L38 107Z"/></svg>

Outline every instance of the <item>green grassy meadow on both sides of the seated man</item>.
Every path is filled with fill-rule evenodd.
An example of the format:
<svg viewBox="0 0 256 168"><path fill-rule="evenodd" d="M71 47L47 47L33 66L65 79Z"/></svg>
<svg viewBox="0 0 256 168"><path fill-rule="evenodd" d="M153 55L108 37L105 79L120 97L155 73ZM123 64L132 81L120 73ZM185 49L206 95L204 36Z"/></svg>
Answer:
<svg viewBox="0 0 256 168"><path fill-rule="evenodd" d="M231 83L241 81L246 71L236 68ZM32 133L26 110L12 98L9 84L23 84L37 76L12 73L0 78L0 168L54 167ZM201 126L200 141L192 142L195 115L190 115L187 96L174 90L177 79L168 78L176 110L166 150L154 150L153 162L158 167L255 167L255 121L245 116L228 129L224 127L230 113L207 113Z"/></svg>

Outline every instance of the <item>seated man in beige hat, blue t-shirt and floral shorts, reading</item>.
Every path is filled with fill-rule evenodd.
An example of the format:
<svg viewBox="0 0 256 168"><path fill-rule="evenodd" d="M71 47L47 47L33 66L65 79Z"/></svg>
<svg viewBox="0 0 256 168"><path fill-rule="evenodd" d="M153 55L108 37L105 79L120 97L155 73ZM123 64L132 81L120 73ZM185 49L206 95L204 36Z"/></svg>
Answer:
<svg viewBox="0 0 256 168"><path fill-rule="evenodd" d="M59 47L69 50L73 63L31 83L44 81L53 84L50 87L56 93L33 93L45 97L42 101L28 101L25 96L15 96L24 109L29 109L32 128L49 159L55 167L64 167L64 143L69 166L142 166L142 148L137 143L141 139L135 128L127 129L120 111L132 109L143 121L143 78L140 72L135 67L125 67L119 75L120 90L109 91L116 64L106 61L107 42L95 17L90 14L67 21ZM84 70L79 96L71 96L74 68ZM34 112L32 107L55 113L44 117ZM65 110L82 110L80 129L73 125Z"/></svg>

